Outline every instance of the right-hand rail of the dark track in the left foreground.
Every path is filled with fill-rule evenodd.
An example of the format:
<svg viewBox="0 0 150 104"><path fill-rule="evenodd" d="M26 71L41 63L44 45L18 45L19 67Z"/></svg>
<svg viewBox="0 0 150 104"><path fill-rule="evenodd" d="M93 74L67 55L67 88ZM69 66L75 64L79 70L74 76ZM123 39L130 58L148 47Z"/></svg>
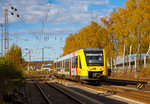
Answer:
<svg viewBox="0 0 150 104"><path fill-rule="evenodd" d="M51 87L53 87L53 88L55 88L56 90L60 91L61 93L65 94L66 96L70 97L71 99L75 100L77 103L79 103L79 104L85 104L84 102L80 101L80 100L77 99L76 97L74 97L74 96L72 96L72 95L66 93L66 92L63 91L62 89L56 87L55 85L52 85L52 84L50 84L50 83L46 83L46 84L49 85L49 86L51 86Z"/></svg>

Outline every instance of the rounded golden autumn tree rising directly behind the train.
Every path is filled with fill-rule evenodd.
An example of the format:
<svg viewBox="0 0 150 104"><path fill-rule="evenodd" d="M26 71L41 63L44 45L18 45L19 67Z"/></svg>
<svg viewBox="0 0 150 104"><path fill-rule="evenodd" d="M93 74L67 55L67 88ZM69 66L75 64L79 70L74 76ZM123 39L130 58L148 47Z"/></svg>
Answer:
<svg viewBox="0 0 150 104"><path fill-rule="evenodd" d="M83 27L78 33L70 34L66 39L64 53L72 53L80 48L105 48L109 45L108 31L92 21L90 25Z"/></svg>

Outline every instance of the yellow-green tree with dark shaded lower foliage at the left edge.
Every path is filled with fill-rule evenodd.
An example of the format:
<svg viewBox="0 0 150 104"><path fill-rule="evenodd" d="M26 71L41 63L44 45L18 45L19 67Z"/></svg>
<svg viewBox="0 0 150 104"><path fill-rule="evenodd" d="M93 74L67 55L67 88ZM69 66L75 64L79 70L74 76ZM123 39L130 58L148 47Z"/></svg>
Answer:
<svg viewBox="0 0 150 104"><path fill-rule="evenodd" d="M0 57L0 93L7 94L22 86L24 68L21 48L12 45L10 51L4 57Z"/></svg>

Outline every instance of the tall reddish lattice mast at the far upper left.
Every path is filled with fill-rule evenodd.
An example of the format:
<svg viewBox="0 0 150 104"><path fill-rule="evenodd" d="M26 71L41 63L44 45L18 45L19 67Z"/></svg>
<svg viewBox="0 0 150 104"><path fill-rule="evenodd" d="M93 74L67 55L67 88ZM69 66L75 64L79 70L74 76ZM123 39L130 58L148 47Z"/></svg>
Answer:
<svg viewBox="0 0 150 104"><path fill-rule="evenodd" d="M5 37L4 54L9 51L9 33L8 33L8 9L5 9Z"/></svg>

